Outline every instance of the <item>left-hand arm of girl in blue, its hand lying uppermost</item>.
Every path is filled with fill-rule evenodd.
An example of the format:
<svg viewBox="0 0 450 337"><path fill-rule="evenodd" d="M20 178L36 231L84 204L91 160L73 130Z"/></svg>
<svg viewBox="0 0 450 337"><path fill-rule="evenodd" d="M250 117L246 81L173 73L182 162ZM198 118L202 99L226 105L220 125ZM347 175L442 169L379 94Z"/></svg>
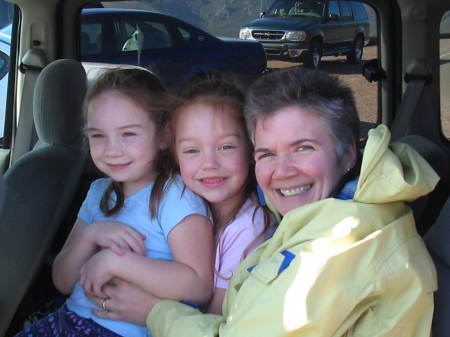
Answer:
<svg viewBox="0 0 450 337"><path fill-rule="evenodd" d="M110 221L87 225L77 219L63 248L53 263L53 283L63 294L69 294L80 277L83 264L100 247L110 248L116 254L132 250L145 254L143 237L129 226Z"/></svg>

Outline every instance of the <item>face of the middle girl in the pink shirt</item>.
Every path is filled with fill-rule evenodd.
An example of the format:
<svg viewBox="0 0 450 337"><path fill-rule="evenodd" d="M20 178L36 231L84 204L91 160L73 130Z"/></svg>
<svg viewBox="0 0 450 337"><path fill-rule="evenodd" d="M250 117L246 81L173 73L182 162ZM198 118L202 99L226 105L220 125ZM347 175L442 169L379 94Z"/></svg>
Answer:
<svg viewBox="0 0 450 337"><path fill-rule="evenodd" d="M231 108L187 106L175 127L175 150L185 184L214 208L230 209L241 201L249 171L249 149L244 126Z"/></svg>

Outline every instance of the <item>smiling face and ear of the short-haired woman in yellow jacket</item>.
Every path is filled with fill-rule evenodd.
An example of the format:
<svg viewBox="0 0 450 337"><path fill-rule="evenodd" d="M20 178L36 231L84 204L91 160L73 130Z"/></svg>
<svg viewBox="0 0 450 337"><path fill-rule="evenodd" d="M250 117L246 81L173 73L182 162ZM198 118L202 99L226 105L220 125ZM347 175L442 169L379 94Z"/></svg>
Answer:
<svg viewBox="0 0 450 337"><path fill-rule="evenodd" d="M282 215L329 197L354 165L353 150L337 161L325 123L300 107L282 108L256 123L256 178Z"/></svg>

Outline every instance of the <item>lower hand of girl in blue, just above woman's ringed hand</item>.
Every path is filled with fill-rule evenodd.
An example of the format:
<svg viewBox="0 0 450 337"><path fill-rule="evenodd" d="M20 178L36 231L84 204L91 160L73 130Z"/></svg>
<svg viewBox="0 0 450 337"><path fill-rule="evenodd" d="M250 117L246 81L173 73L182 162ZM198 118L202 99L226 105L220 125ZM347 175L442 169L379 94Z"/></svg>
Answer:
<svg viewBox="0 0 450 337"><path fill-rule="evenodd" d="M86 295L106 298L102 288L114 277L112 265L118 258L111 250L103 249L81 267L80 285Z"/></svg>

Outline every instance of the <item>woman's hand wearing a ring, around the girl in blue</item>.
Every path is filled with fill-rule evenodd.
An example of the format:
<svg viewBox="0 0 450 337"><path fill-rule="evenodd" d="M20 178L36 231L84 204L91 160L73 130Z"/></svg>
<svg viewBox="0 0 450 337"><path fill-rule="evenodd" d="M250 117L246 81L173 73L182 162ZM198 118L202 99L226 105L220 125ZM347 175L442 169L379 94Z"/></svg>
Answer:
<svg viewBox="0 0 450 337"><path fill-rule="evenodd" d="M96 316L138 325L145 325L148 313L160 300L141 288L120 279L114 279L113 284L106 284L103 287L103 293L107 296L106 299L90 298L100 308L106 309L106 311L94 310Z"/></svg>

